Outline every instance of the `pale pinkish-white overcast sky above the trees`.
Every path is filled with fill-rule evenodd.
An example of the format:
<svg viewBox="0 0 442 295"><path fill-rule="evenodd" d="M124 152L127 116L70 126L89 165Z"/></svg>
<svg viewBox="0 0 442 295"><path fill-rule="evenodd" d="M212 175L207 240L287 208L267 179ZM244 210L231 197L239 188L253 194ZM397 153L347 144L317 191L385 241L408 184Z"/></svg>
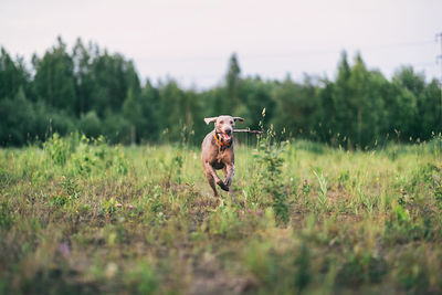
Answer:
<svg viewBox="0 0 442 295"><path fill-rule="evenodd" d="M334 78L340 52L391 77L401 65L441 76L441 0L1 0L0 45L27 61L61 35L134 61L143 81L222 83L236 53L242 75Z"/></svg>

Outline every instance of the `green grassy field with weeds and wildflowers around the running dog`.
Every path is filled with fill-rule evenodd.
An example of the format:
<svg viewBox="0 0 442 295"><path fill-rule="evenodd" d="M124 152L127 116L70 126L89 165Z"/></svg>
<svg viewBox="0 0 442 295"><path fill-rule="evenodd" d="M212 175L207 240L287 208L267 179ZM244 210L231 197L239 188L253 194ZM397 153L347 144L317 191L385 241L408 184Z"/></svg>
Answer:
<svg viewBox="0 0 442 295"><path fill-rule="evenodd" d="M441 139L200 149L54 136L0 150L0 294L442 292Z"/></svg>

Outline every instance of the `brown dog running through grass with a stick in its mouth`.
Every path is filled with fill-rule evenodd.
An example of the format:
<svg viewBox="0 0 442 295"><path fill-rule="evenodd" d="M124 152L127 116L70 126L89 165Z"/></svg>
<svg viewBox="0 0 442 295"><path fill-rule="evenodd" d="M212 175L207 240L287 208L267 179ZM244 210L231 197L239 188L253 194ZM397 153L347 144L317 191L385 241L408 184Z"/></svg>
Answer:
<svg viewBox="0 0 442 295"><path fill-rule="evenodd" d="M214 122L214 130L206 136L201 145L202 167L214 197L218 197L214 183L231 193L234 173L233 127L236 120L244 122L241 117L232 116L204 118L206 124ZM218 169L222 169L224 181L217 175Z"/></svg>

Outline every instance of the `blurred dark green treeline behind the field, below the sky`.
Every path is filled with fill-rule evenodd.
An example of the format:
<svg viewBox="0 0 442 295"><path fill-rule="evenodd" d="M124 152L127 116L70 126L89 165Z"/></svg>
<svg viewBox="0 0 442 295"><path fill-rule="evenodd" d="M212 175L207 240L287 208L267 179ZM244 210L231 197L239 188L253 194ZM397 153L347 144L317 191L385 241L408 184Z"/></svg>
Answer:
<svg viewBox="0 0 442 295"><path fill-rule="evenodd" d="M427 140L442 130L438 81L427 82L411 66L391 80L352 64L344 52L334 80L306 75L302 83L243 77L236 56L224 82L208 91L185 89L169 78L141 82L130 60L77 40L69 50L61 38L43 56L0 55L0 144L20 146L52 133L78 130L113 143L199 144L203 117L232 114L257 128L265 120L285 136L346 148L386 139Z"/></svg>

